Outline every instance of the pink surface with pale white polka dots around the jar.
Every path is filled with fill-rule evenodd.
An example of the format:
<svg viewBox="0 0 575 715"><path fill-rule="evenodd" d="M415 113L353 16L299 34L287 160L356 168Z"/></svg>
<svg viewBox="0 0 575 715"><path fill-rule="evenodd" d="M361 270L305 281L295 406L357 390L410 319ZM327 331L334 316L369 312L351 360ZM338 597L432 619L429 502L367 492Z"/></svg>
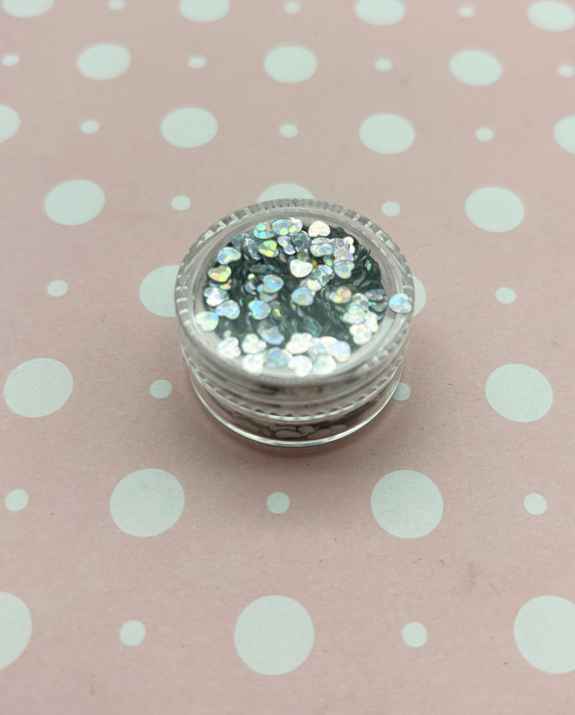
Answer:
<svg viewBox="0 0 575 715"><path fill-rule="evenodd" d="M569 712L575 4L0 21L3 709ZM209 417L173 302L196 236L279 197L416 276L394 399L289 455Z"/></svg>

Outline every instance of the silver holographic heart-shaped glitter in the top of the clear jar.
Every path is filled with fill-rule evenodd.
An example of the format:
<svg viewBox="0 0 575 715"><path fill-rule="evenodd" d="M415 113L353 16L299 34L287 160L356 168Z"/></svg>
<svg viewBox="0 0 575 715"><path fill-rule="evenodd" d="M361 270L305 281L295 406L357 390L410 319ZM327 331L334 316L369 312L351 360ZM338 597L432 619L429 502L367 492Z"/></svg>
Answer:
<svg viewBox="0 0 575 715"><path fill-rule="evenodd" d="M219 336L222 358L329 375L371 340L388 303L379 265L341 227L296 218L259 223L221 248L196 324Z"/></svg>

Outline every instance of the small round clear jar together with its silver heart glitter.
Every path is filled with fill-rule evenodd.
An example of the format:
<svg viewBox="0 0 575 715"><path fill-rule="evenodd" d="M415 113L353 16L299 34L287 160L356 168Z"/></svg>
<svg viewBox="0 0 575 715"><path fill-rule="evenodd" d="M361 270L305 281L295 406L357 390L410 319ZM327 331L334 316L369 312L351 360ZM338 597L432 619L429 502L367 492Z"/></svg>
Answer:
<svg viewBox="0 0 575 715"><path fill-rule="evenodd" d="M391 238L311 199L226 216L176 279L181 350L199 399L230 430L282 447L342 438L385 407L413 302Z"/></svg>

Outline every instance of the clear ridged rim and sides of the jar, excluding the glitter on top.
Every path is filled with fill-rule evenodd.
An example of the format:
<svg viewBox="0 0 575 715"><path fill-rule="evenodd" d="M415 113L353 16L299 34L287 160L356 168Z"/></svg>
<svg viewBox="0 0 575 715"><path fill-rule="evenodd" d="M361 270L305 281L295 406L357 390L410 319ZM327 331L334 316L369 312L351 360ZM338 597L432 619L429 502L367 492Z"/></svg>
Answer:
<svg viewBox="0 0 575 715"><path fill-rule="evenodd" d="M349 359L337 363L329 374L312 371L298 375L266 363L259 374L246 371L242 363L245 356L223 357L223 337L211 328L206 332L205 325L202 328L196 320L196 315L206 312L206 277L219 251L231 245L232 237L251 235L260 222L271 225L286 217L299 219L304 225L322 221L341 228L356 245L369 249L371 259L379 266L387 300L403 294L396 307L402 312L388 307L369 342L352 345ZM232 275L235 266L229 264ZM391 238L357 212L311 199L275 199L224 217L191 247L176 279L181 350L199 399L230 430L276 446L328 443L355 432L381 412L399 383L413 301L413 277ZM397 300L394 305L398 305ZM279 346L283 352L289 344L289 336L285 337ZM317 341L317 336L314 339Z"/></svg>

